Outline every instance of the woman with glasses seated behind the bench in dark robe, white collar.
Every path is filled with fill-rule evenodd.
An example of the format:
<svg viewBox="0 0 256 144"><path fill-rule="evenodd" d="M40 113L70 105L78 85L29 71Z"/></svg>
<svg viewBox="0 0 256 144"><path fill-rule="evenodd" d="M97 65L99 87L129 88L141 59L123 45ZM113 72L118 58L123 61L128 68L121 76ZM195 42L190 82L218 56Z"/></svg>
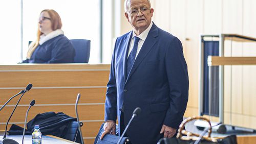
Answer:
<svg viewBox="0 0 256 144"><path fill-rule="evenodd" d="M38 19L37 39L29 45L27 60L23 63L72 63L75 50L61 30L59 14L42 10Z"/></svg>

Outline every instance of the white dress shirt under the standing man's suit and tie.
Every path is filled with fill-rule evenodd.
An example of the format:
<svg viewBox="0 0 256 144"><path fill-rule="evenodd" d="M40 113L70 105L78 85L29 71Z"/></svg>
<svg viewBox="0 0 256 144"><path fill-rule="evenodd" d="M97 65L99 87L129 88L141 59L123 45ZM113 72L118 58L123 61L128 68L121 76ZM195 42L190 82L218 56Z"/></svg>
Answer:
<svg viewBox="0 0 256 144"><path fill-rule="evenodd" d="M132 37L131 42L130 42L129 53L128 53L127 58L129 57L130 53L132 52L133 45L134 45L134 37L135 36L140 38L140 41L138 43L137 53L136 53L136 56L135 56L135 59L137 58L137 56L138 56L138 54L140 52L140 49L141 49L144 41L146 40L146 37L147 37L148 33L150 32L150 29L151 29L152 26L153 26L153 22L151 21L150 26L148 26L148 28L144 32L142 32L140 35L138 35L138 36L133 31L133 37Z"/></svg>

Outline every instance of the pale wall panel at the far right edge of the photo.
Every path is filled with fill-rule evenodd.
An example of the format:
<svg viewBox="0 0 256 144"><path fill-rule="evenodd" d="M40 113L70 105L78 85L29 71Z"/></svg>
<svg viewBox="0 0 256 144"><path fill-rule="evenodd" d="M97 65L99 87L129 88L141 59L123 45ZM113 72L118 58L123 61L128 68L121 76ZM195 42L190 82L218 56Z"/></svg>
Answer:
<svg viewBox="0 0 256 144"><path fill-rule="evenodd" d="M256 1L244 0L243 1L243 33L244 35L256 37ZM243 55L246 57L255 57L256 42L244 43ZM243 113L247 115L256 116L256 66L245 65L243 66ZM256 123L256 121L251 122ZM256 126L253 127L256 129Z"/></svg>

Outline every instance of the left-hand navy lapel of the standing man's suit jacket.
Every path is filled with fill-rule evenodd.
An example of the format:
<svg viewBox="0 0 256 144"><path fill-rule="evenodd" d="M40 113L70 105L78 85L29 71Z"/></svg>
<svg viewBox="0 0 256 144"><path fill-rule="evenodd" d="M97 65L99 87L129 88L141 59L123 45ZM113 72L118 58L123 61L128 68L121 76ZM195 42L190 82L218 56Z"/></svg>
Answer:
<svg viewBox="0 0 256 144"><path fill-rule="evenodd" d="M127 55L129 52L129 47L130 47L130 42L133 36L133 31L130 32L130 34L128 34L125 38L124 41L124 52L123 52L123 78L124 81L126 81L127 78L127 74L126 74L126 67L127 67Z"/></svg>

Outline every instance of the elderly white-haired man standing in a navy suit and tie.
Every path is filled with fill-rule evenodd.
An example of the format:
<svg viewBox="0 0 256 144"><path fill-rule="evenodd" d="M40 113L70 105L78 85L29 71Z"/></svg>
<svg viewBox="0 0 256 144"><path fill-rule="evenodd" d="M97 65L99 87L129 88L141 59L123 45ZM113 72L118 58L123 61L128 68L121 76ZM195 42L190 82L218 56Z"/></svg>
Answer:
<svg viewBox="0 0 256 144"><path fill-rule="evenodd" d="M173 137L188 100L187 65L180 40L151 21L150 0L126 0L133 31L117 38L105 100L104 132L122 134L136 107L141 113L127 129L132 143Z"/></svg>

